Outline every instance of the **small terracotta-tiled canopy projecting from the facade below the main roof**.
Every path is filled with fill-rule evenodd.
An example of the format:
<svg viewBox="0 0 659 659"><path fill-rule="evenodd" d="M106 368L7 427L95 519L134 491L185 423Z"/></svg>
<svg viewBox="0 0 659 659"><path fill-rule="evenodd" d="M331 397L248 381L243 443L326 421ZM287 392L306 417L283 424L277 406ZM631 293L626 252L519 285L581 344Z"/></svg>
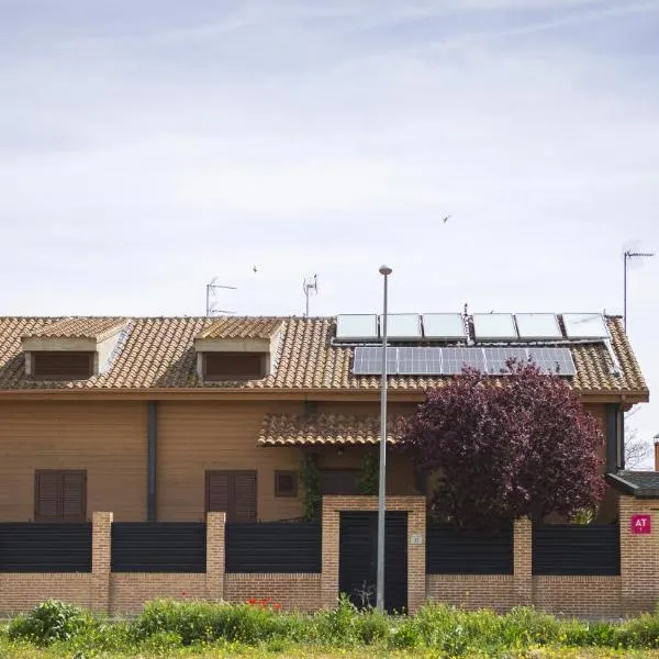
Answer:
<svg viewBox="0 0 659 659"><path fill-rule="evenodd" d="M388 428L387 444L395 444L395 429ZM379 442L377 415L266 414L258 435L259 446L367 446Z"/></svg>

